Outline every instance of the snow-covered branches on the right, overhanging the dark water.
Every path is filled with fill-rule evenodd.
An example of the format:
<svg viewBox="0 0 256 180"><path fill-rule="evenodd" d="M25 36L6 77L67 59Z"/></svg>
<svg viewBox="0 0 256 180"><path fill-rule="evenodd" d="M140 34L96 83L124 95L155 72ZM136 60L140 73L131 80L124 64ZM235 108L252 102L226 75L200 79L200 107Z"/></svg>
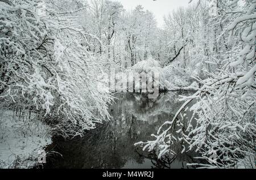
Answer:
<svg viewBox="0 0 256 180"><path fill-rule="evenodd" d="M212 1L216 41L216 71L205 71L207 78L195 77L203 87L183 97L184 104L171 121L159 128L155 140L138 143L143 149L159 150L159 158L172 151L175 141L184 144L182 152L200 152L203 168L255 168L255 36L256 1ZM218 27L218 24L220 27ZM209 47L208 47L209 48ZM191 108L188 104L195 103ZM184 121L185 112L193 117ZM175 126L179 136L170 132ZM137 144L137 145L138 145Z"/></svg>

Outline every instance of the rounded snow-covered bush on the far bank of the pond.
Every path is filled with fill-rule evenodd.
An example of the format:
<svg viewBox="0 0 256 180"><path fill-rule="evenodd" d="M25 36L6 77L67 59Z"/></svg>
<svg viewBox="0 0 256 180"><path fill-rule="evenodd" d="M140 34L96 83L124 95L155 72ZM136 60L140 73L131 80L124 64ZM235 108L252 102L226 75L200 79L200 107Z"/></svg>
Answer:
<svg viewBox="0 0 256 180"><path fill-rule="evenodd" d="M123 77L125 77L130 84L133 84L134 81L134 88L139 89L142 86L142 76L145 76L148 80L152 80L151 78L154 78L154 74L158 74L159 76L158 85L160 91L170 91L180 89L181 87L188 87L193 82L191 74L185 71L184 68L175 64L161 67L159 61L149 57L127 68L127 70L117 73L115 83L121 87L120 84L123 83ZM133 86L129 88L130 91L133 90L131 88L133 88ZM121 88L118 90L126 91L126 87L125 89Z"/></svg>

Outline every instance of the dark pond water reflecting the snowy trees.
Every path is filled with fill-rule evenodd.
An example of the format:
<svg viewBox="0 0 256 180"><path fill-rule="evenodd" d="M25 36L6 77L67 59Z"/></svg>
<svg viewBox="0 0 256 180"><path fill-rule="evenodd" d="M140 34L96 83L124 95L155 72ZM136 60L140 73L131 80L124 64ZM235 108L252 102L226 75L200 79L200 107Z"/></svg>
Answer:
<svg viewBox="0 0 256 180"><path fill-rule="evenodd" d="M154 153L134 147L134 143L150 140L164 121L174 117L182 104L179 95L180 92L162 93L151 100L146 95L118 94L116 103L109 107L112 121L87 132L83 138L53 139L47 147L45 168L191 168L186 164L193 162L195 155L181 155L180 144L174 147L177 155L161 160Z"/></svg>

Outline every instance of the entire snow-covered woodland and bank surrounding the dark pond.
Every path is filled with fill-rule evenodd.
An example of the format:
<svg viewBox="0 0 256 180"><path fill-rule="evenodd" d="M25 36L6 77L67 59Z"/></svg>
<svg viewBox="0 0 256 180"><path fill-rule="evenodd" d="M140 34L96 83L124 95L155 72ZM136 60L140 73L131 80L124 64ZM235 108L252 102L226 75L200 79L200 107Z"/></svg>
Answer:
<svg viewBox="0 0 256 180"><path fill-rule="evenodd" d="M160 93L190 92L131 146L159 160L195 152L194 168L255 168L256 1L194 1L159 28L117 1L0 0L0 167L31 168L53 136L113 121L114 68L115 83L154 70Z"/></svg>

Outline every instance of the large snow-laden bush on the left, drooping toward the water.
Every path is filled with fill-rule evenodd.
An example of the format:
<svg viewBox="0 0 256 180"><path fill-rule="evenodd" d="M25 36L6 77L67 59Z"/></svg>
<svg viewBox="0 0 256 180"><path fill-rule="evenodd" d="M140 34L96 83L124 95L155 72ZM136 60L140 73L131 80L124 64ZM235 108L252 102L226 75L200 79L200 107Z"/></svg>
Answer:
<svg viewBox="0 0 256 180"><path fill-rule="evenodd" d="M82 135L108 119L109 92L95 85L101 57L86 49L89 39L101 42L61 2L39 2L0 2L1 101L42 114L53 133Z"/></svg>

